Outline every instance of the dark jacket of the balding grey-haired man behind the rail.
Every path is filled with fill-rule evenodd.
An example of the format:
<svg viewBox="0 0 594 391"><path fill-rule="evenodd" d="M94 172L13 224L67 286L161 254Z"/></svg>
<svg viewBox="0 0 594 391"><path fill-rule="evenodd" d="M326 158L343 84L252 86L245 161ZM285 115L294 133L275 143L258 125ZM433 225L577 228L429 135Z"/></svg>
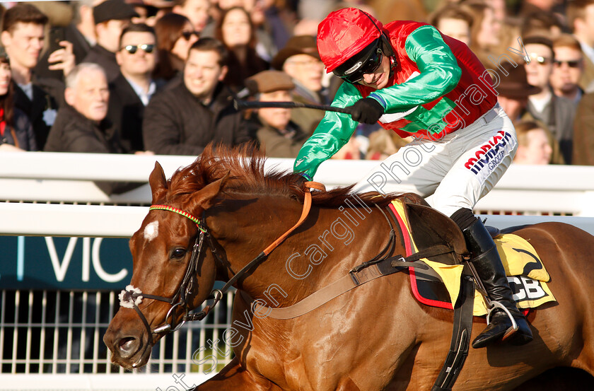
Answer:
<svg viewBox="0 0 594 391"><path fill-rule="evenodd" d="M87 119L74 107L64 105L47 137L46 152L121 153L117 132L108 120ZM130 182L95 182L105 194L119 194L142 185Z"/></svg>

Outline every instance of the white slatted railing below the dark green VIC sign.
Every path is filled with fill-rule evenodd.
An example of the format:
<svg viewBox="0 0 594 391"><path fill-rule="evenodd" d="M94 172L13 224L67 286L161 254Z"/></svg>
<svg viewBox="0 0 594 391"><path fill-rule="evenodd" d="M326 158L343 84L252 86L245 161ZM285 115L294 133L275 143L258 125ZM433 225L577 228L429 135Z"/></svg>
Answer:
<svg viewBox="0 0 594 391"><path fill-rule="evenodd" d="M169 388L175 386L172 374L187 374L188 385L199 384L232 358L219 355L214 367L209 355L210 342L222 340L231 327L233 292L206 321L161 339L148 364L134 373L112 366L103 344L117 293L3 290L0 303L0 390L175 390ZM228 350L222 342L214 347ZM139 373L151 376L130 376ZM60 387L56 379L64 380L62 374L69 375L68 384Z"/></svg>

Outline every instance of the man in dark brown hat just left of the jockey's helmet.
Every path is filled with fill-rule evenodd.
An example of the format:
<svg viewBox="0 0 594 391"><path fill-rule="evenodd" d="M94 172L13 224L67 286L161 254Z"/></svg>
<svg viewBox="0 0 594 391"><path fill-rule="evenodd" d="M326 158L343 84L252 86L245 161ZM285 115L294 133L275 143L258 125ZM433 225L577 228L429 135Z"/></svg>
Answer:
<svg viewBox="0 0 594 391"><path fill-rule="evenodd" d="M286 46L272 59L272 67L284 71L293 78L295 90L293 100L298 103L329 105L330 97L327 88L322 87L324 64L320 61L315 37L296 35L291 37ZM306 134L313 134L324 112L315 109L295 109L291 120L303 129Z"/></svg>

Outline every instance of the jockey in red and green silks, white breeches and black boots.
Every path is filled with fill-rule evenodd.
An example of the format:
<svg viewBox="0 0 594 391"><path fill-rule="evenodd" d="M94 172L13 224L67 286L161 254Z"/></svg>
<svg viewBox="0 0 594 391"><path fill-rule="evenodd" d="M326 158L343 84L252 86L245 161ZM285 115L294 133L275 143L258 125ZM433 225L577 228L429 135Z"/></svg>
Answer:
<svg viewBox="0 0 594 391"><path fill-rule="evenodd" d="M472 346L508 337L513 344L530 342L532 332L516 308L495 243L472 212L505 173L517 148L516 130L497 104L489 72L465 44L431 25L382 25L356 8L334 11L320 23L318 51L327 72L346 82L332 105L351 107L351 115L326 112L299 151L295 172L312 180L320 163L347 144L358 122L379 121L400 136L412 136L354 191L431 196L429 204L462 230L489 298L504 307L491 313Z"/></svg>

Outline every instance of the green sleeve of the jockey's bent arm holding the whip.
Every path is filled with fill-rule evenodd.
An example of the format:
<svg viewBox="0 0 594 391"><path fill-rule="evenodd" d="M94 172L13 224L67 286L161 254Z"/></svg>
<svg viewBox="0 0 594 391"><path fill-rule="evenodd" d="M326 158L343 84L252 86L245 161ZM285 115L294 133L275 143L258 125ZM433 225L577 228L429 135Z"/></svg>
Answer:
<svg viewBox="0 0 594 391"><path fill-rule="evenodd" d="M432 102L452 91L462 75L450 47L431 25L414 30L407 37L404 49L421 74L369 95L378 100L386 112L402 112Z"/></svg>

